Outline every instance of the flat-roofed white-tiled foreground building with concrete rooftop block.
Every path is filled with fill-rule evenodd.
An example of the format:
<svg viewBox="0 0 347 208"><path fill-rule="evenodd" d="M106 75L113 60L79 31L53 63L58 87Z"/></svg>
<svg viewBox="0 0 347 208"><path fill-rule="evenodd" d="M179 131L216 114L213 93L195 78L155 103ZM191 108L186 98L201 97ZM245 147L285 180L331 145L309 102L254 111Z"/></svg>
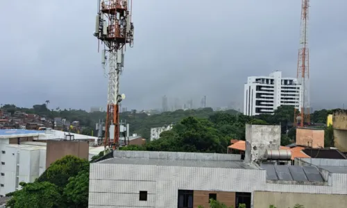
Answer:
<svg viewBox="0 0 347 208"><path fill-rule="evenodd" d="M347 160L280 150L279 126L246 125L246 155L114 151L91 164L89 207L346 207ZM280 134L280 133L279 133ZM117 187L117 189L115 189Z"/></svg>

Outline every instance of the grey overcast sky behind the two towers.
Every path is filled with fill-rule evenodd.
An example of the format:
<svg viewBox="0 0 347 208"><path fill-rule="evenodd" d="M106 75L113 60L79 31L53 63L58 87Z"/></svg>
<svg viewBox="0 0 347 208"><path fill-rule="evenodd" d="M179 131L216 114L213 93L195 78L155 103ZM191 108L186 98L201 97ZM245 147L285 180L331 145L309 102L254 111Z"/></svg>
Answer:
<svg viewBox="0 0 347 208"><path fill-rule="evenodd" d="M96 0L0 1L0 103L105 106L107 78L94 33ZM314 108L347 105L347 1L311 1ZM167 95L198 105L243 105L247 76L296 76L301 0L133 0L122 105L161 107ZM338 94L339 93L339 94ZM50 107L50 108L51 108Z"/></svg>

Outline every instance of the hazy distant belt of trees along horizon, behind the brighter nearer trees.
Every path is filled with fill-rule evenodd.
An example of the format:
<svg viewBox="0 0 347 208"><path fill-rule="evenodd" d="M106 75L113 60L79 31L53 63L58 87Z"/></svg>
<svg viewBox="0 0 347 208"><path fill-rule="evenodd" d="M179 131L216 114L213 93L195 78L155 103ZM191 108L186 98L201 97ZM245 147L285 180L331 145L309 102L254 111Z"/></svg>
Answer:
<svg viewBox="0 0 347 208"><path fill-rule="evenodd" d="M84 110L61 110L59 107L51 109L47 107L49 102L42 105L33 105L32 108L16 107L15 105L2 105L2 109L6 112L14 113L15 111L22 111L26 113L38 114L40 116L48 116L49 118L62 117L67 121L80 121L81 125L90 127L84 130L84 134L90 135L90 132L95 127L95 123L99 120L105 119L105 112L86 112ZM311 119L314 123L326 123L328 114L332 114L335 110L319 110L311 114ZM231 115L231 116L230 116ZM153 127L161 127L171 123L179 123L184 118L193 116L197 119L208 119L212 123L217 123L219 130L226 134L230 129L236 132L236 135L229 135L230 137L244 139L244 130L242 126L244 123L253 124L281 124L282 140L285 144L295 139L295 130L291 129L294 120L294 108L291 106L282 106L276 110L274 115L262 114L260 116L248 117L238 114L235 110L227 110L223 112L213 112L212 108L206 107L198 110L176 110L174 112L163 112L162 114L149 115L145 112L122 112L120 119L130 124L130 133L137 133L142 135L145 139L149 139L150 130ZM223 126L221 126L223 125ZM239 128L241 127L241 128ZM287 129L289 127L289 129ZM237 129L237 130L236 130ZM287 134L287 130L289 131Z"/></svg>

